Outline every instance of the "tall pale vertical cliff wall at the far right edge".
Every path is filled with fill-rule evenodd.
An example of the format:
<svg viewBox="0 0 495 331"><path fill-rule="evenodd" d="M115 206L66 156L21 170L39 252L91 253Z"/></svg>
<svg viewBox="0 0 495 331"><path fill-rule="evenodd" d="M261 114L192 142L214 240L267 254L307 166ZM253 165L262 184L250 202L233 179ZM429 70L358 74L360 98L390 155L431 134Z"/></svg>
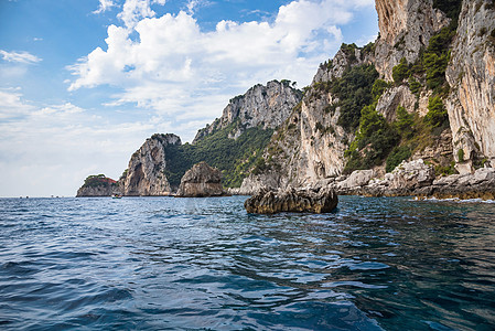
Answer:
<svg viewBox="0 0 495 331"><path fill-rule="evenodd" d="M476 159L487 159L494 167L495 6L492 1L463 1L446 78L451 86L446 109L453 152L460 162L458 170L472 172Z"/></svg>

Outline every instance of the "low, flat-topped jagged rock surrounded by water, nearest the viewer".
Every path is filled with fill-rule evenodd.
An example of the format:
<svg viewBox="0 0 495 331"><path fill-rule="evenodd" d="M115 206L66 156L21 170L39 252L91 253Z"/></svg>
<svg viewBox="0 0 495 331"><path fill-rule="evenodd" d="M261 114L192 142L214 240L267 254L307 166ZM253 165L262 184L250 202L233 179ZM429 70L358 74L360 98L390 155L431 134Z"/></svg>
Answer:
<svg viewBox="0 0 495 331"><path fill-rule="evenodd" d="M331 189L268 191L246 200L244 206L252 214L292 213L330 213L338 203L335 191Z"/></svg>

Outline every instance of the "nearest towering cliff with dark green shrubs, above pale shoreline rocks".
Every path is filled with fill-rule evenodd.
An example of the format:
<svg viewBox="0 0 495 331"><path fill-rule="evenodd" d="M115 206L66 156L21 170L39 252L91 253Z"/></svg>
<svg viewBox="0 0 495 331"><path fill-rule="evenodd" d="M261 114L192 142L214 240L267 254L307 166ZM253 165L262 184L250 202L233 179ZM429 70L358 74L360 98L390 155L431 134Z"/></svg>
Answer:
<svg viewBox="0 0 495 331"><path fill-rule="evenodd" d="M377 41L343 44L320 66L235 193L327 185L363 169L384 179L401 161L424 160L433 178L491 167L494 6L377 0L376 9Z"/></svg>

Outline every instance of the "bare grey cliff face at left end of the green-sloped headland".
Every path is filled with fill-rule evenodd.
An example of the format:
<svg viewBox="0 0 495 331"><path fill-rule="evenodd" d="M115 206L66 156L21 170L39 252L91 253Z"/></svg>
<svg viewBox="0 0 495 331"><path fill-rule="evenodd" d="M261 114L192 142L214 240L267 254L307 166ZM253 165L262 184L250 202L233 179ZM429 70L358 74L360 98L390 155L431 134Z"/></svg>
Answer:
<svg viewBox="0 0 495 331"><path fill-rule="evenodd" d="M127 172L120 179L123 195L160 196L169 195L171 188L164 171L165 149L170 145L181 145L175 135L154 135L136 151Z"/></svg>

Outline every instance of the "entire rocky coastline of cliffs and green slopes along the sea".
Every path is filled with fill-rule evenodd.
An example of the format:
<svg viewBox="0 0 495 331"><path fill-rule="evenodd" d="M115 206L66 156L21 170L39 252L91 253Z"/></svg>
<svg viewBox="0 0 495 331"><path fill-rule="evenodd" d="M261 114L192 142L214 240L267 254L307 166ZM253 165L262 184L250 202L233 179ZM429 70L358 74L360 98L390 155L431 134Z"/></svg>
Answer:
<svg viewBox="0 0 495 331"><path fill-rule="evenodd" d="M169 195L205 161L232 194L494 199L493 1L377 0L376 9L377 40L343 44L310 86L256 85L192 143L153 135L118 181L88 177L77 195Z"/></svg>

